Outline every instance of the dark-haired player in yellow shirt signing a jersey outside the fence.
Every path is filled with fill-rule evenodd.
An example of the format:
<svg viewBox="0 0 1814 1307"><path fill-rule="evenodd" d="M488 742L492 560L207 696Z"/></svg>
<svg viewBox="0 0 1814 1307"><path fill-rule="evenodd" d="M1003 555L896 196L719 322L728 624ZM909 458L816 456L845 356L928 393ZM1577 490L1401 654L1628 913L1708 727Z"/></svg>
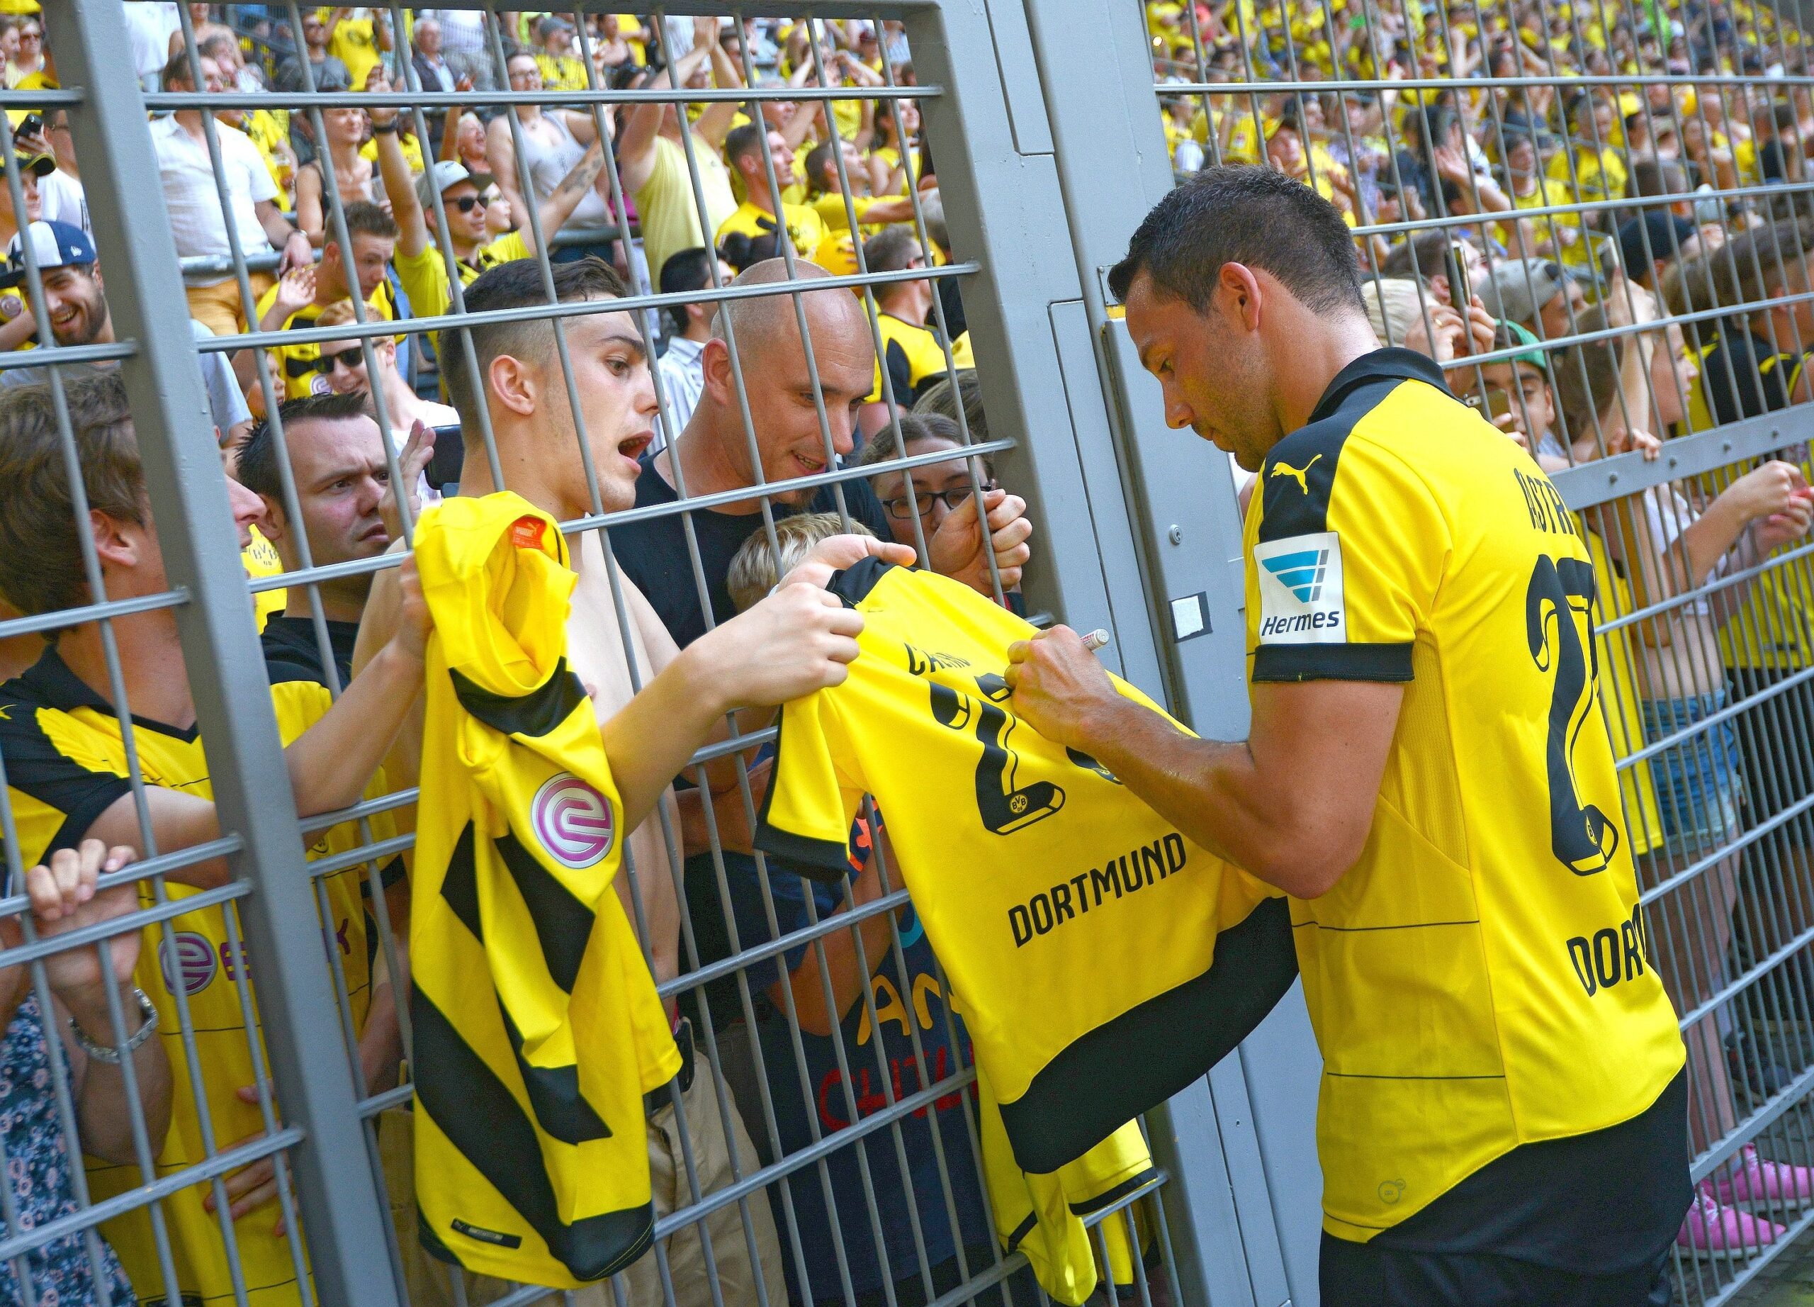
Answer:
<svg viewBox="0 0 1814 1307"><path fill-rule="evenodd" d="M1179 733L1067 628L1014 646L1014 708L1292 897L1322 1302L1669 1302L1685 1056L1560 494L1377 349L1348 227L1290 178L1172 191L1110 287L1168 421L1259 474L1252 730Z"/></svg>

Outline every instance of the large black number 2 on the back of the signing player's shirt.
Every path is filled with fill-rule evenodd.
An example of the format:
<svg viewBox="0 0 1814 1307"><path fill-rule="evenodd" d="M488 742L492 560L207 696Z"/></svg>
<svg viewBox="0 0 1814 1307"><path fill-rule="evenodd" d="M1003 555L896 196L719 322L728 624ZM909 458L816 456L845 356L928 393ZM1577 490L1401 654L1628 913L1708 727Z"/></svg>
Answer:
<svg viewBox="0 0 1814 1307"><path fill-rule="evenodd" d="M1575 875L1604 871L1618 850L1618 824L1584 804L1575 784L1575 739L1591 721L1598 659L1593 644L1593 565L1540 555L1524 595L1524 628L1538 672L1555 672L1549 693L1549 846ZM1575 614L1587 624L1582 641Z"/></svg>

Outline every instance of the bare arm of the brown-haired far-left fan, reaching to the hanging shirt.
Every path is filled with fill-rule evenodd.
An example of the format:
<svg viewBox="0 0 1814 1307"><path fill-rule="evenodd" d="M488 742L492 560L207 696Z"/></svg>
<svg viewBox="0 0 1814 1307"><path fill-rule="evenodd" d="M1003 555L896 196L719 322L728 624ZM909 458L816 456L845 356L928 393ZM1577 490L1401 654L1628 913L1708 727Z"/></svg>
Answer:
<svg viewBox="0 0 1814 1307"><path fill-rule="evenodd" d="M408 717L423 686L423 648L428 639L428 606L414 563L397 577L395 634L348 683L341 697L283 750L296 797L297 817L346 808L361 799L397 728ZM212 801L180 790L147 788L145 817L160 853L171 853L219 837ZM140 848L138 808L131 793L114 799L83 833L103 844ZM227 882L227 860L209 859L171 873L172 880L210 888Z"/></svg>

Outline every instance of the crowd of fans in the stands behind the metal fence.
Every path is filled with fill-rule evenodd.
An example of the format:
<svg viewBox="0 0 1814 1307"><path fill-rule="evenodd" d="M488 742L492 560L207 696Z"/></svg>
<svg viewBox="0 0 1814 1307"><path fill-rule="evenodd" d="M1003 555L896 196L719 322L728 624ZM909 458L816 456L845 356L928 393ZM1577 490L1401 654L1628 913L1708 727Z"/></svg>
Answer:
<svg viewBox="0 0 1814 1307"><path fill-rule="evenodd" d="M0 13L5 85L56 87L54 7L40 15L31 0L11 0L0 9L7 9ZM512 490L573 519L822 474L829 439L840 459L876 470L842 492L816 483L773 492L778 561L755 499L695 512L689 528L660 516L613 528L629 630L617 626L597 539L573 539L580 583L571 659L600 719L651 677L717 668L731 679L735 657L718 630L736 624L746 657L796 637L798 630L782 630L776 608L787 594L771 592L778 577L800 575L796 566L813 574L851 561L849 536L833 530L840 508L853 530L887 543L862 548L912 548L983 592L1000 579L1018 604L1019 570L1032 554L1025 505L996 485L987 463L961 456L989 428L956 280L876 287L874 323L863 300L842 289L807 294L798 310L787 298L746 298L717 309L677 303L658 319L570 316L564 350L548 323L488 323L463 334L408 327L412 318L548 303L550 292L559 301L608 300L626 287L686 296L733 276L755 287L849 274L860 254L869 272L891 274L951 261L956 251L918 105L860 98L914 85L898 24L668 18L657 25L633 15L575 22L521 11L488 25L479 11L414 9L395 31L386 9L310 7L294 31L285 5L185 9L192 47L176 4L127 5L140 84L263 96L259 107L187 107L151 122L198 341L375 319L397 332L200 354L254 577L375 557L441 494L484 494L499 472ZM1357 243L1380 341L1433 356L1457 394L1471 396L1546 470L1562 470L1627 452L1654 459L1673 436L1814 398L1814 376L1803 367L1814 349L1814 203L1801 189L1814 100L1807 85L1780 80L1785 71L1809 73L1807 38L1780 13L1754 0L1651 0L1624 9L1453 0L1364 11L1357 0L1152 0L1146 24L1179 178L1212 163L1273 167L1313 187L1350 225L1370 229L1357 232ZM1618 82L1640 74L1745 80ZM1444 87L1444 78L1462 85ZM1527 82L1466 85L1482 78ZM486 102L499 91L707 91L753 80L847 87L853 98L722 98L682 109L653 100ZM1272 85L1217 89L1230 82ZM1321 82L1350 85L1319 89ZM359 103L363 94L417 89L466 98L424 111ZM343 102L305 111L285 98L305 91ZM96 251L67 111L9 116L25 212L11 187L0 189L7 254L0 350L42 345L45 327L58 345L112 343L107 251ZM42 269L42 303L25 285L22 238ZM541 252L551 260L546 270ZM1497 358L1480 363L1487 354ZM573 370L571 399L562 358ZM94 521L93 565L109 599L163 588L116 367L62 367ZM45 369L0 370L0 617L91 597L45 379ZM577 459L559 457L577 447L577 421L593 448L597 483ZM388 452L381 423L390 428ZM892 465L902 456L931 459L902 470ZM1720 715L1729 703L1772 693L1803 728L1814 722L1814 684L1794 681L1814 666L1814 599L1787 574L1756 575L1760 563L1809 532L1814 496L1805 456L1796 447L1669 483L1589 510L1571 526L1591 541L1602 626L1653 610L1598 637L1600 686L1620 755L1671 741L1624 771L1640 877L1663 884L1720 855L1702 882L1711 902L1691 911L1663 897L1654 909L1673 920L1673 929L1653 935L1680 1011L1709 1004L1734 966L1751 966L1814 926L1807 889L1814 822L1790 811L1814 793L1810 762L1767 748L1745 719ZM1533 512L1564 510L1560 501L1533 501ZM1691 594L1725 575L1738 579ZM323 701L283 722L305 815L346 806L370 786L415 781L406 737L385 757L399 722L379 706L386 697L408 701L395 686L412 670L419 675L423 614L412 586L406 572L375 581L370 572L336 572L314 594L294 586L256 595L274 684L343 692L334 708ZM1660 615L1653 608L1671 601ZM317 643L317 612L327 644ZM120 615L112 630L141 730L180 737L194 706L171 610ZM1801 635L1783 643L1785 630ZM63 693L69 712L85 704L91 715L105 713L107 657L93 623L49 643L15 635L0 641L0 679L29 670L9 683L11 697ZM0 692L0 704L7 701ZM751 692L742 703L775 699ZM25 850L44 862L27 884L36 933L138 906L131 889L94 891L102 870L143 853L132 795L116 775L94 781L103 761L83 764L51 742L33 744L38 753L31 753L20 739L0 735L15 810L69 804L54 808L54 839ZM751 764L760 802L766 759ZM31 768L49 779L40 784ZM755 859L735 770L706 768L697 779L702 784L664 801L684 868L669 873L660 822L629 837L642 895L633 917L649 933L644 948L658 982L898 888L880 813L865 813L853 830L849 880L811 884ZM160 851L216 833L210 802L158 784L149 821ZM1785 871L1765 871L1751 851L1727 851L1740 831L1783 813L1774 839L1785 851L1769 866ZM210 862L174 879L205 886L221 875ZM383 899L401 926L406 884L386 879ZM691 922L688 931L682 920ZM375 949L375 920L363 929ZM20 922L0 920L0 940L18 938ZM152 931L147 955L156 938ZM0 1007L11 1013L0 1046L0 1129L13 1173L36 1176L27 1223L76 1209L74 1160L45 1087L51 1027L71 1062L83 1149L132 1162L114 1046L154 1027L152 1009L161 1011L161 1035L131 1044L141 1116L152 1147L165 1140L165 1164L203 1156L189 1082L171 1087L171 1066L181 1056L171 1042L180 1033L176 1013L158 964L136 966L136 935L116 938L111 980L91 951L65 955L49 968L45 993L22 968L0 973ZM134 975L152 993L143 1015ZM161 975L171 975L167 962ZM120 989L112 1009L107 984ZM392 978L374 975L361 1004L359 1062L365 1089L375 1093L397 1084L403 1053ZM969 1060L963 1022L943 1004L911 906L892 920L871 915L860 929L686 991L673 1022L688 1055L678 1106L666 1093L649 1102L655 1202L664 1214L691 1200L691 1182L700 1193L729 1185ZM109 1033L116 1026L120 1033ZM1747 1044L1740 1026L1714 1015L1687 1035L1698 1149L1734 1129L1741 1104L1807 1071ZM96 1047L114 1060L96 1058ZM203 1066L201 1076L210 1075ZM225 1086L227 1100L234 1091L238 1082ZM234 1122L243 1135L263 1129L254 1100L241 1093L238 1116L223 1102L214 1102L212 1116L221 1145L234 1142ZM675 1234L666 1263L677 1300L711 1302L707 1262L724 1302L753 1300L747 1294L762 1282L771 1303L844 1302L845 1278L860 1303L923 1303L965 1269L987 1265L994 1236L961 1102L956 1093L938 1098L898 1133L876 1133L860 1151L840 1149L820 1167L796 1171L747 1211L729 1204ZM403 1213L412 1193L408 1129L406 1109L379 1122L392 1200ZM1780 1227L1745 1211L1765 1180L1814 1194L1807 1169L1760 1162L1745 1149L1702 1185L1682 1245L1743 1256L1780 1238ZM194 1191L201 1209L225 1196L245 1218L239 1256L256 1256L259 1240L283 1247L281 1225L272 1233L270 1158L232 1173L219 1193L205 1189ZM863 1214L865 1189L874 1193L876 1222ZM827 1204L842 1222L829 1218ZM125 1278L138 1294L161 1296L151 1242L138 1229L114 1229L103 1233L120 1258L82 1236L33 1253L38 1300L49 1302L54 1289L63 1307L102 1302L105 1280L112 1302L123 1302ZM171 1240L181 1245L183 1274L205 1278L205 1267L221 1260L221 1227L207 1218L172 1225ZM210 1240L216 1247L203 1249ZM399 1223L399 1247L415 1302L446 1300L448 1271L421 1256L414 1220ZM931 1265L923 1278L922 1254ZM288 1254L268 1265L287 1267ZM7 1280L16 1274L15 1263L0 1267L0 1298L20 1296ZM635 1263L629 1280L631 1302L660 1300L655 1258ZM490 1302L504 1287L481 1278L466 1292L466 1302Z"/></svg>

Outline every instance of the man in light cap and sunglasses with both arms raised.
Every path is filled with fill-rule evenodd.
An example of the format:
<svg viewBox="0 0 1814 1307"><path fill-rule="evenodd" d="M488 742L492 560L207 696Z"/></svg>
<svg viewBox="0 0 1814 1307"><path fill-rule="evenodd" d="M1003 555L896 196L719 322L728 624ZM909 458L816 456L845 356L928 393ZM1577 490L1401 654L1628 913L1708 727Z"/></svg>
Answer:
<svg viewBox="0 0 1814 1307"><path fill-rule="evenodd" d="M448 289L446 256L434 238L434 194L441 192L441 207L448 220L448 238L454 243L454 261L459 283L470 285L481 272L510 260L533 258L535 227L528 221L497 240L484 225L484 189L493 178L472 172L459 160L439 160L419 178L410 178L410 163L397 145L397 111L370 109L372 140L377 143L377 167L390 196L390 212L397 220L397 280L410 296L417 318L435 318L448 312L454 300ZM579 163L561 180L539 207L542 236L553 234L593 194L593 183L604 167L604 151L593 140Z"/></svg>

